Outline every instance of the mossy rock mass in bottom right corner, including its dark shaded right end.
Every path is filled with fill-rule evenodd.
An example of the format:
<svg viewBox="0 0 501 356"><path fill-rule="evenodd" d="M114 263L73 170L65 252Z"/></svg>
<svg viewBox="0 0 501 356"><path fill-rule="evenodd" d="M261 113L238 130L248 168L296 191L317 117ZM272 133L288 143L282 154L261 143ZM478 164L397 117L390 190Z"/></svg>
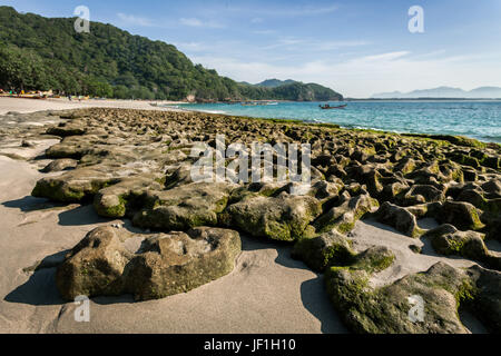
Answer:
<svg viewBox="0 0 501 356"><path fill-rule="evenodd" d="M458 316L458 307L463 306L475 310L475 315L499 332L500 313L494 308L500 305L501 289L494 295L490 291L500 285L501 274L477 266L461 270L438 263L425 273L372 288L369 278L373 273L370 267L374 264L364 260L358 266L331 267L325 274L331 300L351 330L465 334L469 332Z"/></svg>

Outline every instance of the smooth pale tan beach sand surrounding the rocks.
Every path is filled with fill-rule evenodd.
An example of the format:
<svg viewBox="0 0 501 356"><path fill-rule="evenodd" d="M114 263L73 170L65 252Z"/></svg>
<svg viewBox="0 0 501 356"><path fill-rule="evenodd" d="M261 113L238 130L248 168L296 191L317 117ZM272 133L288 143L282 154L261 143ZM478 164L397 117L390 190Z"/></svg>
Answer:
<svg viewBox="0 0 501 356"><path fill-rule="evenodd" d="M2 112L72 106L0 98ZM16 140L9 145L19 156L37 157L55 142L35 141L36 148L19 148L20 141ZM42 177L38 169L47 162L0 156L0 333L346 333L327 299L321 275L291 259L289 246L245 236L243 253L229 275L159 300L92 298L90 322L75 322L76 305L61 300L56 289L56 268L36 273L23 269L42 259L60 259L89 230L117 221L100 218L91 206L53 206L30 197ZM421 224L432 227L436 222ZM132 229L129 221L125 225ZM357 221L350 237L356 250L384 245L395 253L396 263L377 274L374 285L425 270L439 260L453 266L472 265L461 258L436 256L428 241L373 221ZM423 246L423 254L411 251L411 244ZM471 330L484 332L470 315L462 315L462 319Z"/></svg>

